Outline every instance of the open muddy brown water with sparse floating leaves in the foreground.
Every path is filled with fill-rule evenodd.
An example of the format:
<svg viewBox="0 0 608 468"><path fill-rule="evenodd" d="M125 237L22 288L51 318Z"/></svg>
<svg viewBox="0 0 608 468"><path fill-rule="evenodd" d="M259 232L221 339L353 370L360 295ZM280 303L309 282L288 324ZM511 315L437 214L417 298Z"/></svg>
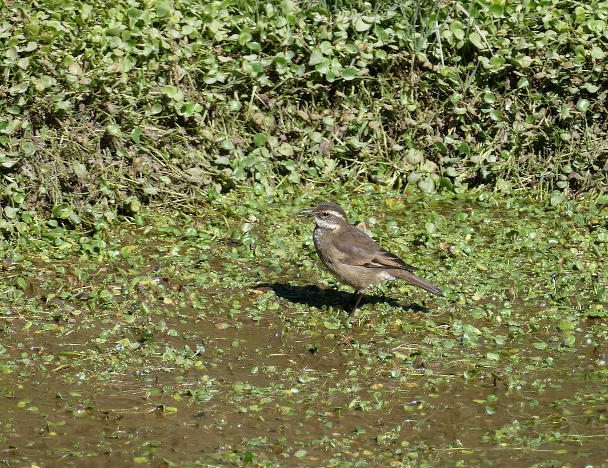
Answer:
<svg viewBox="0 0 608 468"><path fill-rule="evenodd" d="M424 317L410 312L405 318ZM95 347L98 328L31 334L24 330L27 317L13 315L2 360L19 369L2 376L0 459L7 466L167 466L164 459L185 466L237 463L251 452L257 463L278 466L334 466L336 459L418 466L421 458L443 466L547 460L606 466L608 407L606 400L587 399L606 386L606 374L583 379L598 362L606 365L603 350L581 346L555 356L549 369L539 365L519 376L503 371L503 379L511 377L506 382L489 371L466 375L471 368L458 360L425 362L425 368L371 359L382 349L424 356L429 345L399 336L398 329L387 332L399 336L387 349L366 324L348 332L311 329L305 336L272 314L260 321L207 319L181 310L165 321L178 335L158 337L156 344L195 349L202 339L205 349L191 357L198 365L147 355L140 368L104 375L122 353L107 343ZM119 322L97 320L97 326ZM407 379L391 377L395 369ZM544 387L530 387L533 380ZM193 397L201 389L209 401ZM305 455L295 456L302 449ZM412 450L418 458L409 461Z"/></svg>

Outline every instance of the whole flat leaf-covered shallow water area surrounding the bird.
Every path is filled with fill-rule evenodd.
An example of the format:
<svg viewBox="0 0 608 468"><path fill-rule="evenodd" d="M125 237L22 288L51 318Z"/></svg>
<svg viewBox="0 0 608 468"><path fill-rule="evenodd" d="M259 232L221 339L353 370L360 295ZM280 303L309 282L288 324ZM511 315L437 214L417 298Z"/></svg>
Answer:
<svg viewBox="0 0 608 468"><path fill-rule="evenodd" d="M385 284L351 328L317 201L4 246L2 463L606 466L608 200L337 199L446 294Z"/></svg>

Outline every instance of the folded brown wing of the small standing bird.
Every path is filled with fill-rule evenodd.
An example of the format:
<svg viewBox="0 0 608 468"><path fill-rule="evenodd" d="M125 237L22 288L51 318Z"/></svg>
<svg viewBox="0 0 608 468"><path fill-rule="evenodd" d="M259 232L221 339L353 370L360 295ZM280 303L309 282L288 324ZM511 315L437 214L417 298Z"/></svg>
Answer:
<svg viewBox="0 0 608 468"><path fill-rule="evenodd" d="M418 270L388 250L382 249L356 227L349 225L347 230L340 232L340 236L336 236L334 239L333 247L342 254L341 263L367 268Z"/></svg>

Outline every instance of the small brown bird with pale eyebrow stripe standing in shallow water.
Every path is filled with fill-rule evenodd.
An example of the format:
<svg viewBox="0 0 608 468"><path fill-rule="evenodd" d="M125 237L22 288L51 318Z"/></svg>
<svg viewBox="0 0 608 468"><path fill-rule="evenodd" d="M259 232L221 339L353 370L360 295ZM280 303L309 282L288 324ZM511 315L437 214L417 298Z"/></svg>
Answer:
<svg viewBox="0 0 608 468"><path fill-rule="evenodd" d="M362 231L348 224L346 213L339 205L323 202L299 215L313 216L316 227L313 239L317 255L340 283L356 289L349 317L361 303L365 290L383 281L406 280L425 291L443 296L434 284L413 274L417 268L404 263L398 256L382 249Z"/></svg>

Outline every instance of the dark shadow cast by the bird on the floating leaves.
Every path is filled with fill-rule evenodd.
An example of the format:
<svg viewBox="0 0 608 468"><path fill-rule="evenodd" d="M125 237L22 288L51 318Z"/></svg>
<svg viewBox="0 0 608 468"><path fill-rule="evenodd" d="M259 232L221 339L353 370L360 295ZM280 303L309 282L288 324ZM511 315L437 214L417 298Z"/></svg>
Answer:
<svg viewBox="0 0 608 468"><path fill-rule="evenodd" d="M263 283L257 284L255 289L259 291L273 291L278 297L297 304L305 304L318 309L323 306L340 307L350 312L353 304L353 294L337 289L321 289L319 286L309 284L308 286L292 286L285 283ZM365 294L361 300L359 308L364 304L387 303L391 307L405 309L410 312L427 312L427 309L420 305L411 303L410 305L399 304L395 299L385 295Z"/></svg>

